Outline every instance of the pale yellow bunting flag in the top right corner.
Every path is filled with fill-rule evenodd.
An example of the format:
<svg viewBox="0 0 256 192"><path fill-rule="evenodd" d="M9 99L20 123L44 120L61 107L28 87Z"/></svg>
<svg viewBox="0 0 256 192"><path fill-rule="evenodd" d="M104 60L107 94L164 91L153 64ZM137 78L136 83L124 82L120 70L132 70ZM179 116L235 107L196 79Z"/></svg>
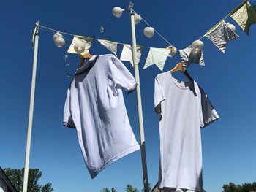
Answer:
<svg viewBox="0 0 256 192"><path fill-rule="evenodd" d="M249 1L245 1L241 4L241 7L235 9L230 13L230 17L236 20L236 23L249 35L249 28L253 23L256 23L256 12L254 7L249 4Z"/></svg>

